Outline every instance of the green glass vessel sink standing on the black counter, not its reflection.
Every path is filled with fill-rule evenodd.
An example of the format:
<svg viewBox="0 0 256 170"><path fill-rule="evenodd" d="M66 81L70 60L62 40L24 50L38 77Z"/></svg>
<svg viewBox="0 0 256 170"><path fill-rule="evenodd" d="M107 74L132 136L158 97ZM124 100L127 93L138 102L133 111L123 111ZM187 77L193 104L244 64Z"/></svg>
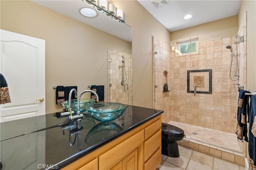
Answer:
<svg viewBox="0 0 256 170"><path fill-rule="evenodd" d="M127 106L120 103L96 103L85 107L89 116L101 122L113 121L120 117Z"/></svg>

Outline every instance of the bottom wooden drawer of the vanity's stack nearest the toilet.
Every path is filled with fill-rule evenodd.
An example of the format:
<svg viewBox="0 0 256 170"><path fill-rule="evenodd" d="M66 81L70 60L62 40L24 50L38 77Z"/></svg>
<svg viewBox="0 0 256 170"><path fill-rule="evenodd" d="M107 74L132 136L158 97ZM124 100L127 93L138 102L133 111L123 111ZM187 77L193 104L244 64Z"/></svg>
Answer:
<svg viewBox="0 0 256 170"><path fill-rule="evenodd" d="M144 170L156 170L161 163L161 147L144 164Z"/></svg>

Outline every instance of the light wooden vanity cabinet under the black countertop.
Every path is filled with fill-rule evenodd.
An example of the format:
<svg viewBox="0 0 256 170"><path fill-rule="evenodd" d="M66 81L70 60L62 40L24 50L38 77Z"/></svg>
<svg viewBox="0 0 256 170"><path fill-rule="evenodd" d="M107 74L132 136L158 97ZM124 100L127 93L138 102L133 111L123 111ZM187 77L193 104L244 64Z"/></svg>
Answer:
<svg viewBox="0 0 256 170"><path fill-rule="evenodd" d="M161 163L161 115L63 170L156 170Z"/></svg>

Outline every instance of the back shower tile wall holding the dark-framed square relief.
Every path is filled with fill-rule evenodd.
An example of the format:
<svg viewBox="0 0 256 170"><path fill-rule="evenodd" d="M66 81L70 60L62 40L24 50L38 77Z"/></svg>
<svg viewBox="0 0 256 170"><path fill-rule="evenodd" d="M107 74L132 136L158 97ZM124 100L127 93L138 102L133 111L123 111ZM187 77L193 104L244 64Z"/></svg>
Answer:
<svg viewBox="0 0 256 170"><path fill-rule="evenodd" d="M199 54L172 57L172 120L219 131L235 131L238 89L233 88L229 78L231 57L230 50L226 49L234 40L234 37L225 37L199 42ZM187 93L186 71L202 69L212 69L212 94ZM234 65L231 75L234 75ZM180 102L181 99L185 100Z"/></svg>

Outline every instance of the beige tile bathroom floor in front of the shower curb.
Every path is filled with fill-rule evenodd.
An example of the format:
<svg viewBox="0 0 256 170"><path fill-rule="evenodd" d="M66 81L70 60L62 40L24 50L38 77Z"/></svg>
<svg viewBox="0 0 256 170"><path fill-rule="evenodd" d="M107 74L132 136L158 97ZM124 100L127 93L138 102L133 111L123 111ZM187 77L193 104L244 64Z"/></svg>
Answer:
<svg viewBox="0 0 256 170"><path fill-rule="evenodd" d="M244 170L244 166L228 162L195 150L179 147L180 156L172 158L162 154L159 170Z"/></svg>

